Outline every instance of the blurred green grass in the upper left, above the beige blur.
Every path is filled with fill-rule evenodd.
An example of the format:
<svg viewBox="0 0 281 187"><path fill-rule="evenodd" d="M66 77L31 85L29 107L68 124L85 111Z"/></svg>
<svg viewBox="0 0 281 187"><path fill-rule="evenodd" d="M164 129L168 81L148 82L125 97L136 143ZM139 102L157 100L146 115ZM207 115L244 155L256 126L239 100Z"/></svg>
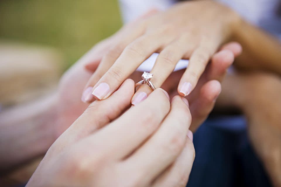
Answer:
<svg viewBox="0 0 281 187"><path fill-rule="evenodd" d="M65 68L121 27L117 0L2 0L0 39L39 44L64 55Z"/></svg>

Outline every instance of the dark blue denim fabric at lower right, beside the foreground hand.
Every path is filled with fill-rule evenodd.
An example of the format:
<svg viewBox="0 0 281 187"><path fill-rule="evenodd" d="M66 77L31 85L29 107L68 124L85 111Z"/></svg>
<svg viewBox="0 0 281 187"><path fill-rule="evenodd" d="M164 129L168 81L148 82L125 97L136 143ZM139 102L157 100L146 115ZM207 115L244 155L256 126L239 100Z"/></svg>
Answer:
<svg viewBox="0 0 281 187"><path fill-rule="evenodd" d="M267 187L241 116L208 119L194 134L195 160L187 187Z"/></svg>

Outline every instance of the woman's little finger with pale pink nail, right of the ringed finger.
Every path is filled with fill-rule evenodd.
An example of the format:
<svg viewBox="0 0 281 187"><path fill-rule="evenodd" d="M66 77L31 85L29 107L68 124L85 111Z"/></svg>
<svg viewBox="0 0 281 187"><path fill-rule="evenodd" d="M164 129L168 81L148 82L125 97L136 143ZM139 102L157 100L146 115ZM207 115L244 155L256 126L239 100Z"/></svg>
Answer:
<svg viewBox="0 0 281 187"><path fill-rule="evenodd" d="M217 46L213 42L204 42L191 55L189 65L182 76L178 92L181 96L187 96L195 88L198 79L205 70L210 57L215 53Z"/></svg>

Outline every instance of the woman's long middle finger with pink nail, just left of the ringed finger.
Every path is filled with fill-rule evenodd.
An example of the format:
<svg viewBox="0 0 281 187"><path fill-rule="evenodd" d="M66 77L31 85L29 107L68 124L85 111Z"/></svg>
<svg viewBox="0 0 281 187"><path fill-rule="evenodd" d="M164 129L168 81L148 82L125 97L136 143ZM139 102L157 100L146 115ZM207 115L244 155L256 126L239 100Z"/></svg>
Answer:
<svg viewBox="0 0 281 187"><path fill-rule="evenodd" d="M169 43L173 36L170 34L170 37L167 37L167 32L170 31L167 29L157 30L153 33L145 34L129 44L112 67L93 87L92 94L95 98L99 100L106 99L154 51Z"/></svg>

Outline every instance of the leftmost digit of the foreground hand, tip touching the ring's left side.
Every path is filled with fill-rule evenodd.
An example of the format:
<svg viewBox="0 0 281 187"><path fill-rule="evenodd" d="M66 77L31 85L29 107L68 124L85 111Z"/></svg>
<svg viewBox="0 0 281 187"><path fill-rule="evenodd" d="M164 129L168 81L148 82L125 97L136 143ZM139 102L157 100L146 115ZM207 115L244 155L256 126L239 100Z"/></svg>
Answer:
<svg viewBox="0 0 281 187"><path fill-rule="evenodd" d="M129 107L134 93L134 82L127 79L120 88L105 101L95 101L85 112L64 132L64 145L76 142L91 134L118 117ZM64 139L64 138L62 138Z"/></svg>

